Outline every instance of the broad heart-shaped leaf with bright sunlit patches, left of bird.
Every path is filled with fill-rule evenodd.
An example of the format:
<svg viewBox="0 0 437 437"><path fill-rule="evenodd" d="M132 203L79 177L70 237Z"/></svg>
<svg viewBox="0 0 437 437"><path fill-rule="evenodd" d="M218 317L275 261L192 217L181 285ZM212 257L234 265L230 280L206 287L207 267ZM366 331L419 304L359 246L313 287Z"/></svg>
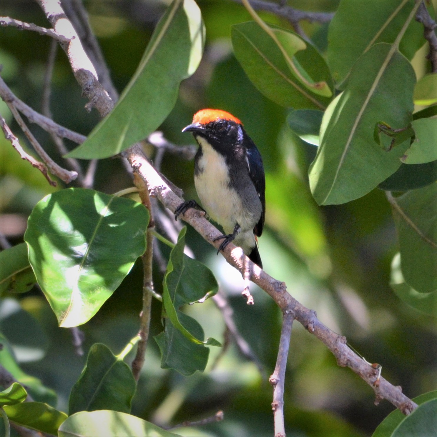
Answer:
<svg viewBox="0 0 437 437"><path fill-rule="evenodd" d="M24 240L59 326L87 322L112 295L145 251L148 221L143 205L83 188L38 202Z"/></svg>

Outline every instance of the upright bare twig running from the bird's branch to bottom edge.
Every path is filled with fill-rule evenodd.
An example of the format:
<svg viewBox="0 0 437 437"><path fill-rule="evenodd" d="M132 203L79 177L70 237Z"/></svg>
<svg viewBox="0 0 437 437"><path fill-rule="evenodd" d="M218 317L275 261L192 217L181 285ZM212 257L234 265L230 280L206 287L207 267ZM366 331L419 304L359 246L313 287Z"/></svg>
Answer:
<svg viewBox="0 0 437 437"><path fill-rule="evenodd" d="M270 384L273 385L272 409L275 423L275 437L285 437L284 383L293 320L293 312L286 309L283 312L281 338L279 342L278 357L276 359L276 367L272 376L269 378Z"/></svg>

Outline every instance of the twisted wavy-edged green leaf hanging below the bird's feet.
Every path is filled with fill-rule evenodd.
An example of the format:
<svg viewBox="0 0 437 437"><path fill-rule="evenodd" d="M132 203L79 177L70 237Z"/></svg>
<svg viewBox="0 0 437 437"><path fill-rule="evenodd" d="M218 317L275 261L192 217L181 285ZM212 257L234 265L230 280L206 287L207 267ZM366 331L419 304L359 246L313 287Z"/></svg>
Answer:
<svg viewBox="0 0 437 437"><path fill-rule="evenodd" d="M184 255L185 232L186 227L182 228L178 243L170 253L163 292L167 317L164 336L158 336L157 343L162 353L161 367L175 368L183 375L191 375L196 370L205 369L209 350L204 346L220 346L220 343L213 338L204 340L199 323L180 312L179 308L214 295L218 285L210 269Z"/></svg>

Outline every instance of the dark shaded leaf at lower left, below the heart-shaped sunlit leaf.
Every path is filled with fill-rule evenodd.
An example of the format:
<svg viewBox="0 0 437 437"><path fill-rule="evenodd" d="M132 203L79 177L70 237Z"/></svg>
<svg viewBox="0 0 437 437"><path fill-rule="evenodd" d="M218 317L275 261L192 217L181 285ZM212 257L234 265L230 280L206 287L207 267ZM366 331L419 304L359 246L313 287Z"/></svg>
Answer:
<svg viewBox="0 0 437 437"><path fill-rule="evenodd" d="M91 346L87 364L73 385L69 414L112 409L130 413L136 382L129 366L104 344Z"/></svg>

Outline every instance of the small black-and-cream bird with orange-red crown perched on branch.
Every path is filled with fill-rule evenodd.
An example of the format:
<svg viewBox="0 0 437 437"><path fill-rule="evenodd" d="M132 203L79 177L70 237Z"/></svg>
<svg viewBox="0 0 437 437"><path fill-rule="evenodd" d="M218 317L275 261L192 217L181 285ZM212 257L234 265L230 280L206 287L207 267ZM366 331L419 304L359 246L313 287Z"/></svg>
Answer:
<svg viewBox="0 0 437 437"><path fill-rule="evenodd" d="M227 111L202 109L182 132L199 145L194 157L194 184L202 207L194 200L175 210L175 219L189 208L202 209L224 234L219 250L232 242L262 268L257 237L266 216L266 177L262 158L241 121Z"/></svg>

